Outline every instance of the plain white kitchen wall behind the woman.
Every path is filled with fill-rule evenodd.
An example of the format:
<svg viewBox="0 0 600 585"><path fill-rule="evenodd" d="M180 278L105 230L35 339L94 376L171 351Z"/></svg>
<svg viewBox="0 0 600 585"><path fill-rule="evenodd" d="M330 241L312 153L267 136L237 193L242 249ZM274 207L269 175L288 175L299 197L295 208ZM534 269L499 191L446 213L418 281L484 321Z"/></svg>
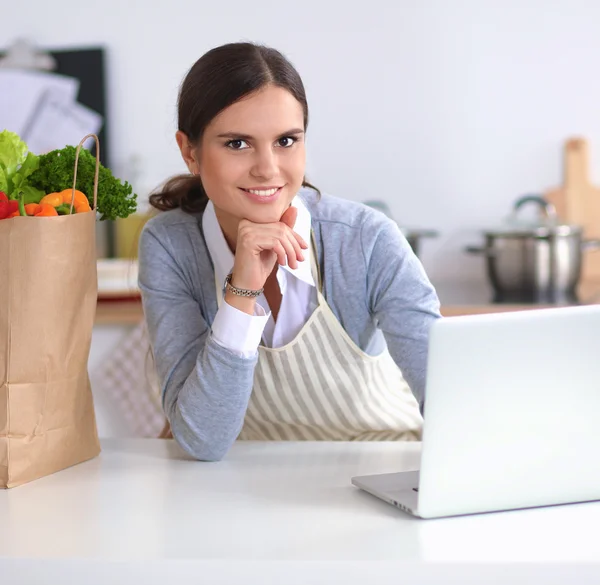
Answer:
<svg viewBox="0 0 600 585"><path fill-rule="evenodd" d="M141 193L183 170L175 102L193 62L230 41L279 48L307 88L309 178L439 229L422 254L434 282L485 279L462 247L561 180L566 137L587 136L600 166L600 1L2 1L2 48L107 48L110 148L121 168L142 157Z"/></svg>

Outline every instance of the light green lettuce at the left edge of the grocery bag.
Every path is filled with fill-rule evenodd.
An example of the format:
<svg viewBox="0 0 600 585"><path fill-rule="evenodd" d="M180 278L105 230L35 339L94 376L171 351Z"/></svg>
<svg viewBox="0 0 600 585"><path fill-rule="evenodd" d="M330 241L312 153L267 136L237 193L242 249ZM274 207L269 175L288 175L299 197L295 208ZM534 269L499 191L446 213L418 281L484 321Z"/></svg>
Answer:
<svg viewBox="0 0 600 585"><path fill-rule="evenodd" d="M18 134L8 130L0 132L0 191L4 191L9 199L17 199L39 166L39 157L27 151L27 144ZM36 196L33 191L28 192L29 197Z"/></svg>

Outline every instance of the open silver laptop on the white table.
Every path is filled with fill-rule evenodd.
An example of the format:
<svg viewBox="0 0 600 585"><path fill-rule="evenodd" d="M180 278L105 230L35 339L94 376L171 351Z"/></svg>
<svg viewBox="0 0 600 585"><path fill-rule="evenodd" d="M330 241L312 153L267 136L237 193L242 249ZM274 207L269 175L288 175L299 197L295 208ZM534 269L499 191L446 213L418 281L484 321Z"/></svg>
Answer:
<svg viewBox="0 0 600 585"><path fill-rule="evenodd" d="M600 500L600 305L437 320L420 469L352 483L420 518Z"/></svg>

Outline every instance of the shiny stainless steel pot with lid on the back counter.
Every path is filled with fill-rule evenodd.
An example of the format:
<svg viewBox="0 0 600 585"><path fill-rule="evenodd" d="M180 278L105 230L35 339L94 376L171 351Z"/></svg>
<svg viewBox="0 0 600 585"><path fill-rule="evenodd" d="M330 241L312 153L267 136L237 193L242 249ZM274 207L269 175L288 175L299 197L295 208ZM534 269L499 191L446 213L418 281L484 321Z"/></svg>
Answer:
<svg viewBox="0 0 600 585"><path fill-rule="evenodd" d="M529 203L543 212L536 225L517 221L519 210ZM466 251L485 257L494 302L577 303L582 253L600 248L600 240L583 240L581 226L561 224L554 206L536 195L519 198L513 221L483 235L483 247L468 246Z"/></svg>

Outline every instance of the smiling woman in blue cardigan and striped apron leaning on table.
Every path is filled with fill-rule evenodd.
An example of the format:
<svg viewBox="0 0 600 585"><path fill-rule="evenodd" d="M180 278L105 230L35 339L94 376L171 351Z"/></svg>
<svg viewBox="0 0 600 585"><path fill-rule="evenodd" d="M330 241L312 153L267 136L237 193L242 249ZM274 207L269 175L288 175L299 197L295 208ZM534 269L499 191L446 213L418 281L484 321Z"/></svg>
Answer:
<svg viewBox="0 0 600 585"><path fill-rule="evenodd" d="M438 298L391 220L305 181L307 123L264 46L209 51L180 89L190 174L150 198L139 286L173 436L201 460L238 438L420 438Z"/></svg>

